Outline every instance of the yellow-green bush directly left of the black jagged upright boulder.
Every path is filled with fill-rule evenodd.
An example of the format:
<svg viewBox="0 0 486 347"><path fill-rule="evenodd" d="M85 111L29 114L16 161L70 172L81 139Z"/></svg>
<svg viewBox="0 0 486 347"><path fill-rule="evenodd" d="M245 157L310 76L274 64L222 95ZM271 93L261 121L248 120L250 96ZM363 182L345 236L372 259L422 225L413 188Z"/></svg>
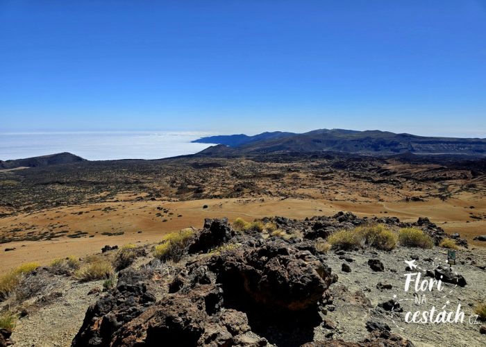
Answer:
<svg viewBox="0 0 486 347"><path fill-rule="evenodd" d="M171 232L164 237L162 244L156 246L153 256L160 260L170 259L178 262L187 253L193 237L194 231L191 228Z"/></svg>

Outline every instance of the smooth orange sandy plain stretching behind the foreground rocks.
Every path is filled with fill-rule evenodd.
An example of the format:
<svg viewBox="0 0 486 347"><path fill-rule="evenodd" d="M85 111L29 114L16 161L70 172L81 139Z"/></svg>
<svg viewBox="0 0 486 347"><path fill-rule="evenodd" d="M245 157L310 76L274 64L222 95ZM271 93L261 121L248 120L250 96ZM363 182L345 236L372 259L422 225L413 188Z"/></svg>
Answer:
<svg viewBox="0 0 486 347"><path fill-rule="evenodd" d="M208 208L203 209L203 205ZM76 230L89 232L94 237L69 239L60 237L50 241L10 242L1 244L0 273L24 262L40 262L49 264L57 257L67 255L84 256L100 251L106 244L122 246L128 243L151 244L160 241L162 235L194 226L201 228L204 218L228 217L231 221L237 217L253 220L266 216L285 216L291 219L303 219L315 215L331 216L338 211L352 211L360 217L364 216L395 216L403 221L416 221L418 217L428 217L441 226L446 232L459 232L473 246L481 245L472 239L477 235L486 234L486 220L469 218L470 205L474 212L486 213L486 201L471 201L469 198L451 198L447 201L438 199L426 202L385 202L385 203L351 203L342 201L276 199L276 198L231 198L220 200L197 201L121 201L106 202L92 205L76 205L74 207L53 208L19 214L15 217L0 219L0 232L8 232L12 228L34 226L29 230L42 232L49 225L59 223L65 225L56 230ZM160 210L157 207L168 208L173 214L156 217ZM116 208L115 211L103 212L103 208ZM98 209L98 210L97 210ZM77 212L85 212L76 214ZM87 212L87 213L86 213ZM387 213L385 213L387 212ZM182 217L178 217L181 214ZM167 221L163 222L163 219ZM466 223L469 221L469 223ZM19 225L22 223L22 225ZM142 233L138 233L141 230ZM101 232L124 231L120 236L103 236ZM15 247L15 251L5 252L4 248Z"/></svg>

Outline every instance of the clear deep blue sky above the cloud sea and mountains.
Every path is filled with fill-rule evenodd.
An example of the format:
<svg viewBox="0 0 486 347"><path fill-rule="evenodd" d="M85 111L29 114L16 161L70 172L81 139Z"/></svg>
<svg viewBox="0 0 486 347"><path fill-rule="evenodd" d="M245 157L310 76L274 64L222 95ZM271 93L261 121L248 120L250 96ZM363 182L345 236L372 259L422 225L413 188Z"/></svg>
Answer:
<svg viewBox="0 0 486 347"><path fill-rule="evenodd" d="M486 137L486 0L0 0L0 133Z"/></svg>

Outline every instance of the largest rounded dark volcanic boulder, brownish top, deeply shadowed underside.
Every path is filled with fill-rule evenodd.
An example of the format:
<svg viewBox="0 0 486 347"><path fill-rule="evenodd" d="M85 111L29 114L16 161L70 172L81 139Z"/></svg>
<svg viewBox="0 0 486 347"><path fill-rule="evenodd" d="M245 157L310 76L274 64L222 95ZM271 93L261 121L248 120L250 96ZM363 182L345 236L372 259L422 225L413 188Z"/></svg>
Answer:
<svg viewBox="0 0 486 347"><path fill-rule="evenodd" d="M217 273L225 294L285 311L316 305L333 281L318 257L278 242L212 257L208 268Z"/></svg>

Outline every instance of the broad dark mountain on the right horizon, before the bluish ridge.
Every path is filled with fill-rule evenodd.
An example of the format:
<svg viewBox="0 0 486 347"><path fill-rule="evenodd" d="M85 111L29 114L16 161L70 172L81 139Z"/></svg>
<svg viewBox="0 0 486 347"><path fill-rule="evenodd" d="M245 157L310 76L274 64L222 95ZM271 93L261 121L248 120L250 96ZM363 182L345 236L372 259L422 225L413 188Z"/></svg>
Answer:
<svg viewBox="0 0 486 347"><path fill-rule="evenodd" d="M231 151L233 155L324 151L367 155L396 155L400 153L486 155L486 139L424 137L380 130L319 129L303 134L291 133L274 138L251 140L233 147L233 151Z"/></svg>

